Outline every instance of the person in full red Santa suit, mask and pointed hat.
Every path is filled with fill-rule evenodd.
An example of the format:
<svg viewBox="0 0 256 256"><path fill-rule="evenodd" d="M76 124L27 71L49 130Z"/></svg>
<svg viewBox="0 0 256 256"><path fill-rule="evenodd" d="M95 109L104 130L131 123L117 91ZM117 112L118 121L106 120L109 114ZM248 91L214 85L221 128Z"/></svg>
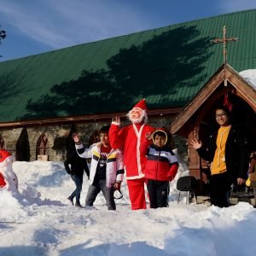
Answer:
<svg viewBox="0 0 256 256"><path fill-rule="evenodd" d="M146 209L144 169L147 158L141 149L148 147L151 143L148 138L154 131L154 127L147 125L148 116L145 99L138 102L127 116L131 120L131 125L122 129L120 129L120 118L113 118L109 130L109 141L112 148L122 148L124 151L126 182L131 210Z"/></svg>

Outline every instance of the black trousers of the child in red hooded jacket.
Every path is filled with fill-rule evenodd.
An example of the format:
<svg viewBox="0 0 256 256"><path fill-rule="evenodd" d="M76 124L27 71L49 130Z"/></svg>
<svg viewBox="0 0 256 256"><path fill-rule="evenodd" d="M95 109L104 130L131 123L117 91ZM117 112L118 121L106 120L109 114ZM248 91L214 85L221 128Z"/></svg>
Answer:
<svg viewBox="0 0 256 256"><path fill-rule="evenodd" d="M169 181L147 180L150 208L168 207Z"/></svg>

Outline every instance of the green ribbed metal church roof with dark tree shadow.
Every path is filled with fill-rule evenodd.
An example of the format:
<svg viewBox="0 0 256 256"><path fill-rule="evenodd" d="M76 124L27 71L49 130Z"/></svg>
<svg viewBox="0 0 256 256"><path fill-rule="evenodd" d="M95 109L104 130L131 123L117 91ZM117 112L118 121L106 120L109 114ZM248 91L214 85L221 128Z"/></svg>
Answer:
<svg viewBox="0 0 256 256"><path fill-rule="evenodd" d="M183 107L223 64L256 68L256 9L0 63L0 122Z"/></svg>

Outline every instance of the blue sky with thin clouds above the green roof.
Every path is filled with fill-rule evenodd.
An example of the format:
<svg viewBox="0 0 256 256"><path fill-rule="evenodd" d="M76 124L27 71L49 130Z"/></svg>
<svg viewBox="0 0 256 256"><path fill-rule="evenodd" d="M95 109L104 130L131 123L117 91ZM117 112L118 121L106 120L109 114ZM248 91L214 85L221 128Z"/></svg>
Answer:
<svg viewBox="0 0 256 256"><path fill-rule="evenodd" d="M0 61L255 8L256 0L0 0Z"/></svg>

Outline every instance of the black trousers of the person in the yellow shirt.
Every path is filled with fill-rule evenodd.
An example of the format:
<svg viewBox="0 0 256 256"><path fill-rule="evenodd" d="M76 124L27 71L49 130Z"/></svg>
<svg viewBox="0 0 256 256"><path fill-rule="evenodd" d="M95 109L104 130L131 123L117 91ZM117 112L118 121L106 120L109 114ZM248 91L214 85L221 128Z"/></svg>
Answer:
<svg viewBox="0 0 256 256"><path fill-rule="evenodd" d="M214 174L210 179L210 198L213 206L230 206L231 177L228 172Z"/></svg>

